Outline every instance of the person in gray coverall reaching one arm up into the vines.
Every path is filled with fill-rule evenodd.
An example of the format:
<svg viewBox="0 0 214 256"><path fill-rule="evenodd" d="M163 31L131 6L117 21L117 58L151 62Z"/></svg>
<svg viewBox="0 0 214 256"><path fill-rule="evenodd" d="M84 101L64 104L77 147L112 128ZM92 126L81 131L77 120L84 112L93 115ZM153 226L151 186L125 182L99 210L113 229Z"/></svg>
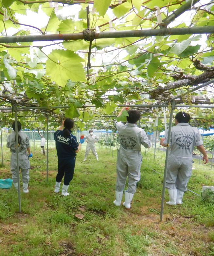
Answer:
<svg viewBox="0 0 214 256"><path fill-rule="evenodd" d="M125 107L122 108L117 117L124 110ZM114 204L120 206L126 178L128 177L128 188L125 190L125 202L123 203L126 209L131 208L131 201L136 191L136 185L140 180L140 167L142 163L141 145L145 148L151 147L151 142L147 138L145 131L136 125L136 122L140 119L140 113L137 110L131 109L128 111L128 114L126 124L123 124L121 121L115 122L120 140L120 148L118 150L116 164L116 199Z"/></svg>

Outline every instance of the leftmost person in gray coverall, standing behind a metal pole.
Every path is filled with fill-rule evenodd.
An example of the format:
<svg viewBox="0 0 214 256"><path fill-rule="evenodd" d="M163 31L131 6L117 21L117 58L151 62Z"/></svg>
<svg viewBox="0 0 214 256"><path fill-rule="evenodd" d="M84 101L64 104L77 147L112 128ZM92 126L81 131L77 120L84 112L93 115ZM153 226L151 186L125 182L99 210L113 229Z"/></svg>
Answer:
<svg viewBox="0 0 214 256"><path fill-rule="evenodd" d="M29 182L29 170L30 161L29 157L32 157L30 153L30 140L29 137L21 132L21 123L18 122L18 144L19 144L19 167L22 172L23 181L23 192L28 193L28 182ZM10 172L12 174L13 185L18 189L18 173L17 173L17 160L16 160L16 133L15 133L15 121L12 123L13 132L7 138L7 148L10 149ZM28 154L27 154L28 153Z"/></svg>

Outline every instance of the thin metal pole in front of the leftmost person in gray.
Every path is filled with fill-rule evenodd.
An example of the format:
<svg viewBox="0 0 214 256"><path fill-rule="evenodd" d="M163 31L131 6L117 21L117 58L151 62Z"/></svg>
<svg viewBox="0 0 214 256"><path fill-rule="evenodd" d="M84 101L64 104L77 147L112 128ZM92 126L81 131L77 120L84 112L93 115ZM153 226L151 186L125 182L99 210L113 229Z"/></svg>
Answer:
<svg viewBox="0 0 214 256"><path fill-rule="evenodd" d="M16 104L14 104L14 113L15 113L15 133L16 133L16 171L18 176L18 201L19 201L19 212L21 212L21 191L20 191L20 176L19 176L19 143L18 143L18 118L17 118L17 112L16 112Z"/></svg>

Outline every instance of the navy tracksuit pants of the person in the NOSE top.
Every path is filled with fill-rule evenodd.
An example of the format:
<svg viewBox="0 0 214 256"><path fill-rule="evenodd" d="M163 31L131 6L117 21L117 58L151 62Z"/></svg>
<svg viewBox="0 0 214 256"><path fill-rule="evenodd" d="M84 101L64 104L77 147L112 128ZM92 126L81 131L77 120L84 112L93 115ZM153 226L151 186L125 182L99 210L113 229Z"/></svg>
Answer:
<svg viewBox="0 0 214 256"><path fill-rule="evenodd" d="M63 176L65 176L64 185L69 185L70 181L73 179L74 176L75 160L75 156L63 159L58 158L58 173L56 177L57 182L61 182Z"/></svg>

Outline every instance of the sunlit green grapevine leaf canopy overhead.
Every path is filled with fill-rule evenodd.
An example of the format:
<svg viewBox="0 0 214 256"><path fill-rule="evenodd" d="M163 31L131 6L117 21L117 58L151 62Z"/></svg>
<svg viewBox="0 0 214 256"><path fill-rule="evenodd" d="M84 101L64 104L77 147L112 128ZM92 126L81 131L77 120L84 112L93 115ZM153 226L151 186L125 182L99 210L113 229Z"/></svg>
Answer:
<svg viewBox="0 0 214 256"><path fill-rule="evenodd" d="M0 30L1 37L79 33L88 26L96 33L182 30L214 26L213 10L207 0L2 0ZM161 104L181 95L179 104L212 104L212 83L191 90L214 78L213 40L213 34L95 39L91 54L86 40L0 43L0 104L48 107L19 112L26 127L45 125L48 114L51 126L71 117L81 130L110 128L117 104L126 102ZM146 116L142 122L161 117L161 108L138 109ZM212 109L184 110L195 125L212 124ZM6 110L0 115L5 125L13 119ZM36 122L33 116L39 116Z"/></svg>

